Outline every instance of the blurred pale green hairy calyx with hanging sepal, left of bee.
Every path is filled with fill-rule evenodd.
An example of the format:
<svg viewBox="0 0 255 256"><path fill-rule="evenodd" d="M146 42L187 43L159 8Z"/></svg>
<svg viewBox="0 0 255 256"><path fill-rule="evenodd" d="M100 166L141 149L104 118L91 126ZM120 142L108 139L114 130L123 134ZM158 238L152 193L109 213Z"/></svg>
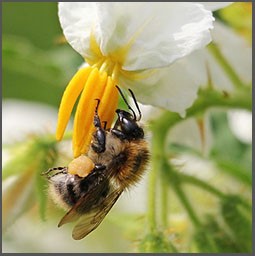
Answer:
<svg viewBox="0 0 255 256"><path fill-rule="evenodd" d="M14 154L14 151L17 154ZM29 187L34 189L37 202L39 204L39 214L42 220L45 220L46 204L47 204L47 180L42 177L42 172L54 166L58 157L56 149L56 141L52 136L33 137L24 145L12 149L15 157L10 159L3 168L3 180L10 176L23 177L26 173L33 176L32 184ZM26 191L26 187L21 187L20 194ZM34 193L33 193L34 194Z"/></svg>

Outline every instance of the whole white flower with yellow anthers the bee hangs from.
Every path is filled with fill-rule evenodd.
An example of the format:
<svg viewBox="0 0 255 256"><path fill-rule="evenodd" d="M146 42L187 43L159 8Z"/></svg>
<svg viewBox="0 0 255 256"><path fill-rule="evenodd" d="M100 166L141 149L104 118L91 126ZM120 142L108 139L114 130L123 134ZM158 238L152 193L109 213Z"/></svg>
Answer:
<svg viewBox="0 0 255 256"><path fill-rule="evenodd" d="M59 111L57 138L61 139L81 94L74 122L75 156L86 152L90 141L95 98L101 99L102 120L111 124L118 94L110 91L117 91L116 84L131 88L141 103L181 115L192 105L199 84L190 79L192 70L178 60L211 41L214 18L203 5L63 2L59 19L67 41L90 66L72 79ZM180 76L180 69L180 74L190 75ZM107 94L111 97L103 97Z"/></svg>

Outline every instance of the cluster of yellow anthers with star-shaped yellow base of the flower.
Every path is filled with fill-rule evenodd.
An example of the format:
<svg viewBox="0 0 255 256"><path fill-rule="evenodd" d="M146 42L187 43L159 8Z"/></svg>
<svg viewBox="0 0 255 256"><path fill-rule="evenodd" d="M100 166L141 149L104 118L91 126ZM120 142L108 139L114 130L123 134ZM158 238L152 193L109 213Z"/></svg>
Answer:
<svg viewBox="0 0 255 256"><path fill-rule="evenodd" d="M116 49L108 56L104 56L93 33L91 34L90 49L92 57L85 59L89 66L78 70L68 84L58 114L56 138L61 140L74 104L80 95L74 117L74 157L85 154L91 143L92 134L95 131L93 125L97 103L95 99L100 99L98 114L101 121L106 122L106 128L110 128L118 105L116 85L120 73L126 77L137 79L139 72L129 72L122 69L133 40L134 38L125 46Z"/></svg>

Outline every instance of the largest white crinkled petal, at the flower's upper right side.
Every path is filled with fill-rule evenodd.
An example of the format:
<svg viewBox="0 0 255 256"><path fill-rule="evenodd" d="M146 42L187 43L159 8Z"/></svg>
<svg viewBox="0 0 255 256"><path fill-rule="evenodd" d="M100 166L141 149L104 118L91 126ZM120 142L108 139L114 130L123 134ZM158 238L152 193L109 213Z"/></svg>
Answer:
<svg viewBox="0 0 255 256"><path fill-rule="evenodd" d="M96 34L104 55L133 40L125 70L169 65L211 40L213 17L199 4L100 3L98 17Z"/></svg>

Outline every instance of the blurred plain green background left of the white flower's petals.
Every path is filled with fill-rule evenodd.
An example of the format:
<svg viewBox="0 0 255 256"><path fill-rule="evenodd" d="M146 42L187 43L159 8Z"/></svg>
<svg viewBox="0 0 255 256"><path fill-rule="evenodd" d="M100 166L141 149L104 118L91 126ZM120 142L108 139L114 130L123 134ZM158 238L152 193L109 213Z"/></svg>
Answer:
<svg viewBox="0 0 255 256"><path fill-rule="evenodd" d="M65 42L57 3L2 3L3 98L58 106L82 63Z"/></svg>

